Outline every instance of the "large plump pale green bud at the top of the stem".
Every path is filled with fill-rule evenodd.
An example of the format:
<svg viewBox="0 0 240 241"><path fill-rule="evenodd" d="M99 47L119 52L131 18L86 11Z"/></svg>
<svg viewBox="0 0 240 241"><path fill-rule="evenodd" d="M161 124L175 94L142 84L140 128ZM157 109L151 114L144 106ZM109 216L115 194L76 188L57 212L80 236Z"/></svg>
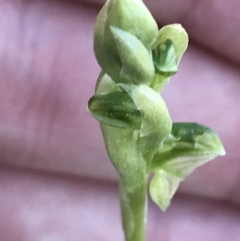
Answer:
<svg viewBox="0 0 240 241"><path fill-rule="evenodd" d="M118 33L113 28L118 29ZM124 33L128 35L128 39L125 39ZM140 83L149 83L154 76L151 50L157 40L157 34L157 24L141 0L108 0L97 17L94 31L94 52L97 61L116 83L136 83L136 79ZM124 47L128 45L130 38L131 45L138 40L139 51L129 52L129 48ZM126 66L126 59L123 62L122 55L126 56L127 52L129 59L139 59L146 63L147 67L142 70L143 64L138 65L139 61ZM133 71L130 71L131 69ZM138 74L135 75L137 69Z"/></svg>

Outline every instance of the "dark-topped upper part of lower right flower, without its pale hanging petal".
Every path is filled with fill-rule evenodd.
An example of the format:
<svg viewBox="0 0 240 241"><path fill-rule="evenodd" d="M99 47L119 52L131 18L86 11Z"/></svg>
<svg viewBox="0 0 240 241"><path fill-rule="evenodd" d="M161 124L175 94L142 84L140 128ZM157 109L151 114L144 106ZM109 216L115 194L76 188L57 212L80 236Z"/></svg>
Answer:
<svg viewBox="0 0 240 241"><path fill-rule="evenodd" d="M225 155L225 150L213 130L197 123L174 123L171 135L154 156L152 170L162 169L183 180L219 155Z"/></svg>

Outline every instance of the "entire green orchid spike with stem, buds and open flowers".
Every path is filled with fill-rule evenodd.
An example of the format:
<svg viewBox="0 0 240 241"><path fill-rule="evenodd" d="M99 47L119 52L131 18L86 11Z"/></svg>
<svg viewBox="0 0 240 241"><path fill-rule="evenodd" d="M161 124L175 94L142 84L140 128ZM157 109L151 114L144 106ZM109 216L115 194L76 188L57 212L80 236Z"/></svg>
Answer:
<svg viewBox="0 0 240 241"><path fill-rule="evenodd" d="M141 0L108 0L94 31L102 72L88 108L100 121L119 173L126 241L145 240L147 186L166 210L179 183L225 151L217 134L195 123L172 123L159 92L178 70L188 45L180 24L158 31Z"/></svg>

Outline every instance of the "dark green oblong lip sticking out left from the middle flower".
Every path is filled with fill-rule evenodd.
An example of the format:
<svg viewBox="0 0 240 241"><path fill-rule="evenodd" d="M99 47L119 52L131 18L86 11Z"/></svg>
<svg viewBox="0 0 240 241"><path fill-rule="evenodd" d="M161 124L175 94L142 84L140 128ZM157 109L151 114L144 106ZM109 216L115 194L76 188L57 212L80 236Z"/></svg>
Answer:
<svg viewBox="0 0 240 241"><path fill-rule="evenodd" d="M88 102L92 115L100 122L119 127L140 129L141 112L125 92L94 95Z"/></svg>

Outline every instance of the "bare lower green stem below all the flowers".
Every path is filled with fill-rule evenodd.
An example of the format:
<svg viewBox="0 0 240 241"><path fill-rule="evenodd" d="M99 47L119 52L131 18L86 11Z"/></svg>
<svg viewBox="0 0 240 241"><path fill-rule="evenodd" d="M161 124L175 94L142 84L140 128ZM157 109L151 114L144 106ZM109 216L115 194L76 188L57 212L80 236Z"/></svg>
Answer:
<svg viewBox="0 0 240 241"><path fill-rule="evenodd" d="M145 241L147 221L147 180L134 191L120 179L122 225L125 241Z"/></svg>

